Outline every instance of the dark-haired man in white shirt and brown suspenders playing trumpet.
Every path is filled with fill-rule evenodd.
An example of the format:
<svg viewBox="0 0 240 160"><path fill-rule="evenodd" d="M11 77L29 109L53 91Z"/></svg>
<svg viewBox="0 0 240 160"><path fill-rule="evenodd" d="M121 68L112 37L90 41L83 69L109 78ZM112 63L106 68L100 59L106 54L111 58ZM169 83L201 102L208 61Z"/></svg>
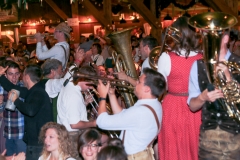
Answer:
<svg viewBox="0 0 240 160"><path fill-rule="evenodd" d="M147 156L148 160L153 158L153 151L149 144L160 130L162 107L158 97L165 91L165 88L164 77L153 69L145 68L134 90L138 101L128 109L122 109L117 102L114 90L110 89L110 84L105 86L100 81L98 85L99 116L96 123L104 130L122 130L120 137L129 155L128 159L137 158L140 155ZM108 115L106 112L107 94L114 115Z"/></svg>

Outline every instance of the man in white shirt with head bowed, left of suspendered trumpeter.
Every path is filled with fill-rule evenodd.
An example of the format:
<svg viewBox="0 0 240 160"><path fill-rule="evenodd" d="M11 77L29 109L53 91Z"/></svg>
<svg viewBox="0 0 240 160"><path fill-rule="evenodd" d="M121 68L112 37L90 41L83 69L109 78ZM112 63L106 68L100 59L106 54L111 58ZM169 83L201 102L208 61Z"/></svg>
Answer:
<svg viewBox="0 0 240 160"><path fill-rule="evenodd" d="M81 93L87 91L90 86L79 76L79 73L96 75L96 72L90 66L76 68L73 73L73 80L61 89L57 100L57 122L63 124L68 130L70 140L76 146L76 155L78 155L77 139L81 131L96 126L95 121L88 121L87 119L86 103ZM78 156L76 158L79 159Z"/></svg>

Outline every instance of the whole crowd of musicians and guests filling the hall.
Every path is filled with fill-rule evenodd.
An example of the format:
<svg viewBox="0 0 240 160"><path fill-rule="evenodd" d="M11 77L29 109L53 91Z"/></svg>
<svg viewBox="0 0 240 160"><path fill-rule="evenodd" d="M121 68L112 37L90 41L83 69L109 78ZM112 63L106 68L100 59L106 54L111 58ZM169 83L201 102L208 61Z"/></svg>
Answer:
<svg viewBox="0 0 240 160"><path fill-rule="evenodd" d="M138 79L117 72L111 39L92 34L70 45L71 27L64 22L55 28L54 43L37 33L32 53L25 44L6 47L0 57L1 158L240 159L240 125L214 105L224 94L209 89L199 32L184 16L172 27L181 36L163 50L157 70L149 63L157 39L131 35ZM219 61L239 64L232 34L222 36ZM225 73L226 83L239 85L225 65L216 69ZM97 77L97 84L89 77ZM134 87L131 107L112 86L114 79ZM6 108L8 101L15 110Z"/></svg>

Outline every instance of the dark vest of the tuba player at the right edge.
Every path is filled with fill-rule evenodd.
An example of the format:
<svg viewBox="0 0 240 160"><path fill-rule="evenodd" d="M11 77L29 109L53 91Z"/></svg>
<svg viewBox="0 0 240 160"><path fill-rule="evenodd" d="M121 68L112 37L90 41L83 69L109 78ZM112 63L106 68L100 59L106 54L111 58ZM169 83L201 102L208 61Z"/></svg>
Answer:
<svg viewBox="0 0 240 160"><path fill-rule="evenodd" d="M229 61L237 62L240 64L240 58L231 55ZM206 66L203 63L203 60L197 61L198 65L198 83L201 92L207 88L209 84L207 75L206 75ZM240 82L240 75L233 75L234 79ZM240 105L238 105L238 108ZM222 130L238 134L240 133L240 122L237 122L235 119L232 119L228 116L227 112L223 108L216 108L216 106L211 102L206 102L202 108L202 130L215 129L219 126Z"/></svg>

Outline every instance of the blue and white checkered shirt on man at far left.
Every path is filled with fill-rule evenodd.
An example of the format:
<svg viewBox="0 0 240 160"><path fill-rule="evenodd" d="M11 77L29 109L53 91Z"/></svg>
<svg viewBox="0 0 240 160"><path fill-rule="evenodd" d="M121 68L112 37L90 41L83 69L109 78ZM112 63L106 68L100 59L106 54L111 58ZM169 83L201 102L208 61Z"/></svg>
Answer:
<svg viewBox="0 0 240 160"><path fill-rule="evenodd" d="M22 82L17 83L18 86L23 86ZM3 89L0 86L0 91ZM8 99L8 92L3 92L4 102L6 104ZM24 101L22 98L20 100ZM9 111L4 109L4 137L7 139L22 139L24 134L24 116L17 109L15 111Z"/></svg>

